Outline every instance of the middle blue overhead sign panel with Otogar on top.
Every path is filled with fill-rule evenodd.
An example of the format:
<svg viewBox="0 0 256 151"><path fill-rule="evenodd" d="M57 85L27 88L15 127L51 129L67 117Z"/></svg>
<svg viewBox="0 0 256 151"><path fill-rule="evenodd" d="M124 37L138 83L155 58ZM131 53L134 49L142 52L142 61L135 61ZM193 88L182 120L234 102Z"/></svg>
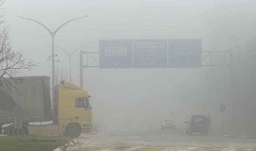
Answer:
<svg viewBox="0 0 256 151"><path fill-rule="evenodd" d="M167 68L167 40L134 40L134 68Z"/></svg>

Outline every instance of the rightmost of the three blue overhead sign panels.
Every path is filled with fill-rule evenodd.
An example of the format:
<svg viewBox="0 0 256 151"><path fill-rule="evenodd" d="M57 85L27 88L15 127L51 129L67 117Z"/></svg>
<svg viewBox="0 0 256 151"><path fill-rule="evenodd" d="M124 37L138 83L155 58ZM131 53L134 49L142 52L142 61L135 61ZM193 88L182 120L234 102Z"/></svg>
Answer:
<svg viewBox="0 0 256 151"><path fill-rule="evenodd" d="M169 39L169 67L201 67L201 39Z"/></svg>

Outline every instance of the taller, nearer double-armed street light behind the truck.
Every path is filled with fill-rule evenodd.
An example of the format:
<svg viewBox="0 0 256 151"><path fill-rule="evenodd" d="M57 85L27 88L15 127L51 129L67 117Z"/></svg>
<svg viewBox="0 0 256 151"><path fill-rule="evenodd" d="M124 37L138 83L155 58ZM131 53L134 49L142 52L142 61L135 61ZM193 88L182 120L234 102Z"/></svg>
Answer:
<svg viewBox="0 0 256 151"><path fill-rule="evenodd" d="M52 32L49 28L47 28L44 24L42 24L41 22L39 21L36 21L34 19L30 19L30 18L25 18L25 17L21 17L21 16L18 16L20 18L23 18L23 19L27 19L27 20L31 20L31 21L34 21L38 24L40 24L43 28L45 28L49 34L52 36L52 101L53 101L53 110L55 108L55 103L54 103L54 97L55 97L55 66L54 66L54 36L56 35L56 33L63 27L65 26L67 23L71 22L71 21L74 21L74 20L77 20L77 19L82 19L82 18L85 18L87 17L88 15L85 15L85 16L82 16L82 17L79 17L79 18L74 18L74 19L71 19L65 23L63 23L60 27L58 27L54 32ZM53 115L54 115L54 112L53 112ZM53 116L54 117L54 116Z"/></svg>

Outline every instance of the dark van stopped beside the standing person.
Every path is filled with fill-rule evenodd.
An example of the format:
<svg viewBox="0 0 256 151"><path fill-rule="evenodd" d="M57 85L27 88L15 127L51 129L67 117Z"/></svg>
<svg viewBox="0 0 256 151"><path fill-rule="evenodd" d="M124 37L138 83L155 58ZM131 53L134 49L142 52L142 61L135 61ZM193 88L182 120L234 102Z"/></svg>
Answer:
<svg viewBox="0 0 256 151"><path fill-rule="evenodd" d="M202 135L208 134L207 117L206 115L192 115L185 121L186 134L201 133Z"/></svg>

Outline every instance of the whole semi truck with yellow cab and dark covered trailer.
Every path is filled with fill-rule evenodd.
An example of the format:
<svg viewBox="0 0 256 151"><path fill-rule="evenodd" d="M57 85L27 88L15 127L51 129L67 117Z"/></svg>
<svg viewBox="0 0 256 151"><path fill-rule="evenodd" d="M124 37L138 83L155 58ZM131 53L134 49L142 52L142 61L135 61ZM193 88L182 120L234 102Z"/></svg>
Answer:
<svg viewBox="0 0 256 151"><path fill-rule="evenodd" d="M90 96L82 88L61 81L55 86L54 102L51 102L50 77L21 77L20 82L8 81L0 87L0 126L6 135L78 137L91 131ZM22 108L19 128L13 124L17 106Z"/></svg>

